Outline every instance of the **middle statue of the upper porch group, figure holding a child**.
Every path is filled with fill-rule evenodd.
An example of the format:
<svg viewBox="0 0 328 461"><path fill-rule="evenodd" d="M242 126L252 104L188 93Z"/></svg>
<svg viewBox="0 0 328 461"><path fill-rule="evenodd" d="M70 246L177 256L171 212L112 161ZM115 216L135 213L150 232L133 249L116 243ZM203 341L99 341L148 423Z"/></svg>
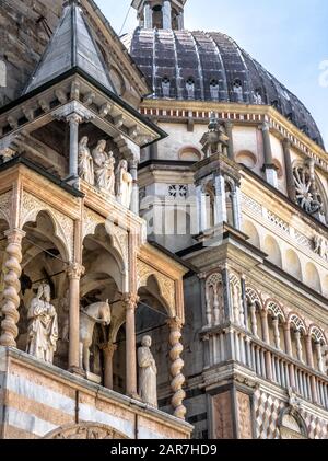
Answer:
<svg viewBox="0 0 328 461"><path fill-rule="evenodd" d="M107 153L106 141L102 139L92 151L94 161L95 185L110 195L115 195L115 159L113 152Z"/></svg>

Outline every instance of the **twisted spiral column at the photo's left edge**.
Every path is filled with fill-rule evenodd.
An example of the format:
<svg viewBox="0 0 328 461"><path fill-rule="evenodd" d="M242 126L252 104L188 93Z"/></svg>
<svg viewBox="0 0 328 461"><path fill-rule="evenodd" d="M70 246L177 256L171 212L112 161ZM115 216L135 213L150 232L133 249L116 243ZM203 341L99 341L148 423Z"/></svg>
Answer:
<svg viewBox="0 0 328 461"><path fill-rule="evenodd" d="M22 239L25 235L21 229L13 229L5 232L8 246L5 249L4 263L4 290L1 322L0 345L8 347L16 347L15 338L19 335L17 323L20 320L20 277L22 274Z"/></svg>

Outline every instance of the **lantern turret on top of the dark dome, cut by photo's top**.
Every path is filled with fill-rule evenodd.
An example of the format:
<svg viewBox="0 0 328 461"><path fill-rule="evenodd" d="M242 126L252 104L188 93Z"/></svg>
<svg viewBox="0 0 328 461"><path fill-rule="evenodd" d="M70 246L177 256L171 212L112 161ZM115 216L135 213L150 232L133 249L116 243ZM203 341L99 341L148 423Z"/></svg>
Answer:
<svg viewBox="0 0 328 461"><path fill-rule="evenodd" d="M187 0L133 0L141 28L184 30Z"/></svg>

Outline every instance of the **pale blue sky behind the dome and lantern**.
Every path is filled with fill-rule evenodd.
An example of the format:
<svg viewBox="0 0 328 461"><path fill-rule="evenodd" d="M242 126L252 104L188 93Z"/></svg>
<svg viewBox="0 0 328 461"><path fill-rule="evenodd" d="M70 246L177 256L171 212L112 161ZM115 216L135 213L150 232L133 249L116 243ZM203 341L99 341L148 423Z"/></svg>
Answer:
<svg viewBox="0 0 328 461"><path fill-rule="evenodd" d="M138 25L131 0L96 0L118 34ZM305 104L328 150L328 1L187 0L185 27L220 31Z"/></svg>

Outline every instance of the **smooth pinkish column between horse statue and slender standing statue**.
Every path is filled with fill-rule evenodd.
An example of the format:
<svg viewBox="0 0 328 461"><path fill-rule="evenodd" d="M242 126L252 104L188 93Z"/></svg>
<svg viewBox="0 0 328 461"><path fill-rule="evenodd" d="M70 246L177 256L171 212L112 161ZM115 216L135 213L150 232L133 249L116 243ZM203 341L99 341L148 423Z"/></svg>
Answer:
<svg viewBox="0 0 328 461"><path fill-rule="evenodd" d="M137 388L137 347L136 347L136 309L139 297L127 293L124 297L126 308L126 367L127 367L127 395L138 399Z"/></svg>

